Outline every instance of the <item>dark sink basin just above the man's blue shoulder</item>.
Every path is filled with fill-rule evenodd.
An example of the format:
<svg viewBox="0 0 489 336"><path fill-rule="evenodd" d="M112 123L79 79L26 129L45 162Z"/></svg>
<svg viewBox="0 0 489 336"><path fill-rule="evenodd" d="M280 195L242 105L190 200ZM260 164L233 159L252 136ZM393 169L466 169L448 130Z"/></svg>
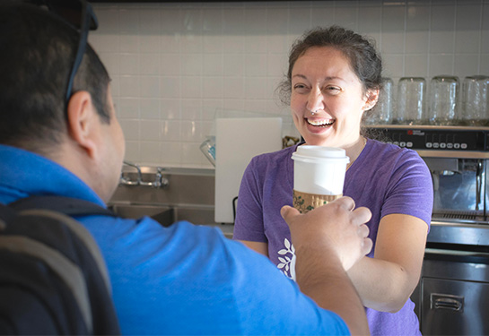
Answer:
<svg viewBox="0 0 489 336"><path fill-rule="evenodd" d="M138 219L143 216L151 217L164 227L169 227L175 222L175 211L169 206L145 204L109 204L108 208L123 218Z"/></svg>

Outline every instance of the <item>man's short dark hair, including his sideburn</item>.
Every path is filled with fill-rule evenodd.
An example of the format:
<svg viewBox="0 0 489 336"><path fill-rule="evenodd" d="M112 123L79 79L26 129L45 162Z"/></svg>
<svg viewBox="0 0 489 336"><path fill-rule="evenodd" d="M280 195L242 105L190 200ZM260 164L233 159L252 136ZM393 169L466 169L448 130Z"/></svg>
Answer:
<svg viewBox="0 0 489 336"><path fill-rule="evenodd" d="M65 90L80 34L33 4L0 5L0 143L43 153L66 134ZM87 90L109 123L109 73L87 45L73 92Z"/></svg>

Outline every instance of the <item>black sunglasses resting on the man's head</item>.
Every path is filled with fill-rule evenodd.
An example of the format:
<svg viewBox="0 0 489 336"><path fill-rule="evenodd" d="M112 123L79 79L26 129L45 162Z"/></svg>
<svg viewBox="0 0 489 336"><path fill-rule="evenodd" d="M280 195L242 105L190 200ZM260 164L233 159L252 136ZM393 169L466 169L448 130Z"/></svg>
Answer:
<svg viewBox="0 0 489 336"><path fill-rule="evenodd" d="M65 22L73 26L74 30L80 32L76 56L74 57L66 87L65 103L67 106L72 95L74 75L82 63L83 54L87 46L88 31L96 30L99 27L99 22L95 13L93 13L92 5L86 0L31 0L27 2L47 6L50 12L56 13Z"/></svg>

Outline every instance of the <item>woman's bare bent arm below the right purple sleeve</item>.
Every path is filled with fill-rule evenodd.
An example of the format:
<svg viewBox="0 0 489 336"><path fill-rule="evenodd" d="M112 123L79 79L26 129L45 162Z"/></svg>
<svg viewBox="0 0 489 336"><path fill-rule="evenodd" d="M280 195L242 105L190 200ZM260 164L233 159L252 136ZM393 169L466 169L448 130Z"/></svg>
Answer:
<svg viewBox="0 0 489 336"><path fill-rule="evenodd" d="M401 309L421 274L428 225L390 214L380 220L373 258L363 257L349 271L364 306L382 312Z"/></svg>

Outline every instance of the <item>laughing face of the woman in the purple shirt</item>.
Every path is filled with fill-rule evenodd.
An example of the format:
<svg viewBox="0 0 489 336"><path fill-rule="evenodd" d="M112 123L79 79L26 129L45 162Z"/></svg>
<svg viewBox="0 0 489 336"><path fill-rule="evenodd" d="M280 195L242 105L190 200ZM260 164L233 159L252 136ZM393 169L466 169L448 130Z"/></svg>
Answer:
<svg viewBox="0 0 489 336"><path fill-rule="evenodd" d="M293 65L293 121L308 144L346 147L358 141L363 110L373 106L367 96L334 47L311 47Z"/></svg>

